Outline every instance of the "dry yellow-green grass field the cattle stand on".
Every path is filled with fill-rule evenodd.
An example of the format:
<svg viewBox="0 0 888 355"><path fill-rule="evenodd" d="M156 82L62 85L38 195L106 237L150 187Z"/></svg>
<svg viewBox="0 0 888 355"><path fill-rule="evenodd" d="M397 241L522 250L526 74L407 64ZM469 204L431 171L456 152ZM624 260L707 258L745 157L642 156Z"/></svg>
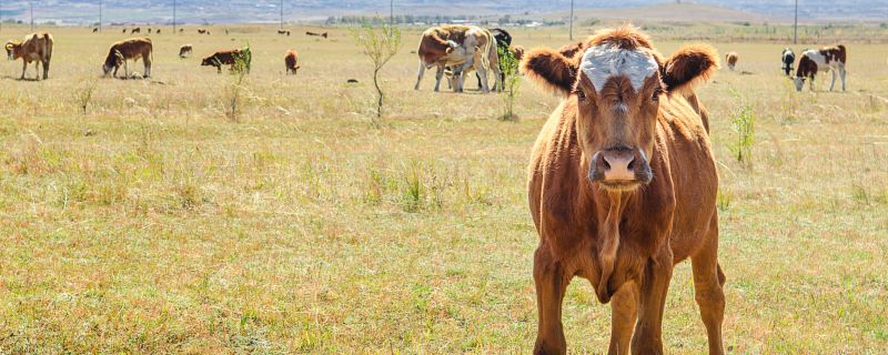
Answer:
<svg viewBox="0 0 888 355"><path fill-rule="evenodd" d="M557 98L525 81L519 120L506 122L501 94L433 93L431 73L414 91L412 29L383 70L377 125L371 64L346 30L186 29L152 37L152 80L99 78L124 38L114 28L50 29L48 81L0 67L0 353L528 352L525 168ZM682 44L654 34L664 53ZM563 30L513 36L567 42ZM200 57L248 42L253 71L232 118L234 75ZM176 58L183 43L194 57ZM699 90L722 175L726 345L885 354L888 45L846 43L848 92L820 79L798 93L779 72L784 44L712 44L740 54ZM817 44L830 42L794 49ZM289 48L296 77L284 75ZM747 105L750 166L731 154ZM687 263L666 308L667 352L703 353ZM606 348L609 307L588 283L571 286L564 322L572 352Z"/></svg>

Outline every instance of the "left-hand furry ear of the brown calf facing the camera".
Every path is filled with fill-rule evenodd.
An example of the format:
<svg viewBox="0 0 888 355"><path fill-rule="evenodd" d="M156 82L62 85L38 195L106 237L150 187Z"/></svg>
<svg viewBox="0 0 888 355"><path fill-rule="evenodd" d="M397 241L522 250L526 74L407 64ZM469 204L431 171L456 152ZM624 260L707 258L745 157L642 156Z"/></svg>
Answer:
<svg viewBox="0 0 888 355"><path fill-rule="evenodd" d="M565 97L576 82L576 63L551 49L536 49L525 54L521 68L543 88Z"/></svg>

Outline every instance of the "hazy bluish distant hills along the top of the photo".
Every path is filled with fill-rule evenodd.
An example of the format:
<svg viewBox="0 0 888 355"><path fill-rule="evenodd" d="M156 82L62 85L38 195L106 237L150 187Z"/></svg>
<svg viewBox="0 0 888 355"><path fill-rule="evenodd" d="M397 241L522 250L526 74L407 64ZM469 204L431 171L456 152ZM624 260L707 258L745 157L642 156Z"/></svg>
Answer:
<svg viewBox="0 0 888 355"><path fill-rule="evenodd" d="M699 13L675 12L678 0L643 1L643 0L575 0L583 17L615 18L615 14L639 16L644 18L662 18L665 20L687 20L699 18ZM103 0L103 22L153 22L172 21L173 0ZM324 21L329 17L355 14L389 14L386 0L284 0L284 20L286 21ZM724 8L725 11L745 13L749 19L791 20L795 0L682 0L685 3L697 3L713 7L695 9ZM3 20L30 20L29 1L1 1L0 16ZM34 0L34 19L37 22L57 22L65 24L87 24L98 21L99 0ZM571 0L395 0L395 14L413 16L524 16L524 17L567 17ZM636 8L636 11L615 10L617 8ZM640 11L638 11L640 8ZM656 12L669 9L662 16ZM707 10L708 11L708 10ZM686 14L686 16L685 16ZM274 0L176 0L176 18L188 23L240 23L240 22L275 22L281 16L281 1ZM616 16L619 17L619 16ZM707 17L703 17L709 19ZM733 19L734 16L727 16ZM632 18L629 18L632 19ZM719 21L718 19L710 19ZM888 21L888 1L886 0L799 0L800 22L828 21Z"/></svg>

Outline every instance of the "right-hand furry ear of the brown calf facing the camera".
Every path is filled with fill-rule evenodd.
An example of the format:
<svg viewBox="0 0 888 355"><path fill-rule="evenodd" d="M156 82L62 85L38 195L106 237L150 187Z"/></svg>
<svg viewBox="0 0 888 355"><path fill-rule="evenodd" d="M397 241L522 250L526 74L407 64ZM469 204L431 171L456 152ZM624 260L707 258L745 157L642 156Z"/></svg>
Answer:
<svg viewBox="0 0 888 355"><path fill-rule="evenodd" d="M678 49L663 63L663 83L669 93L685 94L718 70L718 52L707 44L692 44Z"/></svg>

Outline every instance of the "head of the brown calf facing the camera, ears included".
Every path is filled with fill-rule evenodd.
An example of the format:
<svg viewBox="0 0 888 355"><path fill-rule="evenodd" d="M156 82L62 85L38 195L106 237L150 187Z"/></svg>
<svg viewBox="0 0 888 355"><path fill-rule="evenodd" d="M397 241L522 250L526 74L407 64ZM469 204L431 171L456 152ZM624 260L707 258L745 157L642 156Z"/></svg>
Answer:
<svg viewBox="0 0 888 355"><path fill-rule="evenodd" d="M567 98L565 114L576 116L588 179L609 191L635 190L654 178L650 158L660 100L692 92L718 69L718 54L708 45L688 45L664 60L633 27L601 31L581 51L565 58L538 49L522 68Z"/></svg>

